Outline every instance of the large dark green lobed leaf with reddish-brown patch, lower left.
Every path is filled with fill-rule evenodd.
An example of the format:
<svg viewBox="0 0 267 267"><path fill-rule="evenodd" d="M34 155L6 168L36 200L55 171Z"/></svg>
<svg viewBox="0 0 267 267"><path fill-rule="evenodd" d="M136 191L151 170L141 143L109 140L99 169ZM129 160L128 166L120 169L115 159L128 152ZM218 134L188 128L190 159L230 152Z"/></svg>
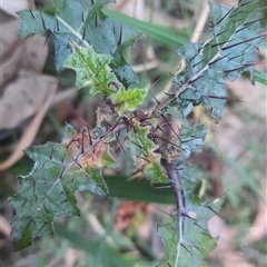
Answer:
<svg viewBox="0 0 267 267"><path fill-rule="evenodd" d="M28 176L18 177L19 192L10 200L16 211L11 233L14 250L30 246L37 236L52 234L58 217L80 216L76 190L109 196L101 168L115 167L117 161L107 144L92 148L87 141L85 131L77 134L67 125L61 144L48 142L26 150L36 162Z"/></svg>

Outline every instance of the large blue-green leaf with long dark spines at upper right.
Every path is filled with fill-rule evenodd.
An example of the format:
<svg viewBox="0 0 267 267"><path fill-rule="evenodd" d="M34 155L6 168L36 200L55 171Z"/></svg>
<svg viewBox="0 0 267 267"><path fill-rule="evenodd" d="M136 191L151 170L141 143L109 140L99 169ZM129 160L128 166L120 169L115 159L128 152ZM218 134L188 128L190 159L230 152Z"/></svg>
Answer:
<svg viewBox="0 0 267 267"><path fill-rule="evenodd" d="M222 115L226 97L225 79L234 81L241 72L254 77L254 53L263 39L258 1L244 0L231 9L210 3L212 34L205 43L188 43L177 52L185 58L185 72L174 78L185 90L176 106L187 116L194 106L209 106L215 120Z"/></svg>

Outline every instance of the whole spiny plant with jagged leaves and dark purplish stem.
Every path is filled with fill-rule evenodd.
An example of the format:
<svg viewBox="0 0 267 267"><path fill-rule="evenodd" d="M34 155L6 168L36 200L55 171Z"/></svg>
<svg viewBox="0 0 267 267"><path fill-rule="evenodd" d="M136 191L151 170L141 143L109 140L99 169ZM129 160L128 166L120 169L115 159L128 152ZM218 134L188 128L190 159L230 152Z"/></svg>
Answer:
<svg viewBox="0 0 267 267"><path fill-rule="evenodd" d="M234 81L244 71L254 80L254 55L264 38L258 1L243 0L233 8L210 3L212 30L201 43L177 50L186 68L174 76L175 90L145 107L149 86L141 86L123 51L141 36L109 19L102 7L112 0L55 0L55 16L41 10L18 12L22 39L48 33L56 49L56 68L72 69L76 86L90 81L89 95L100 96L106 106L96 110L96 127L79 132L67 123L60 144L27 148L34 161L28 176L18 177L19 192L10 200L14 250L32 239L53 233L53 221L63 215L80 216L76 190L108 197L103 168L118 168L118 147L154 184L174 188L177 211L172 221L158 227L167 250L158 266L198 266L215 247L207 228L221 199L204 202L187 165L191 152L202 146L207 127L191 123L187 116L195 106L212 109L219 121L226 101L226 79ZM182 126L175 128L168 110L176 109ZM127 135L126 135L127 134ZM119 146L117 146L119 145Z"/></svg>

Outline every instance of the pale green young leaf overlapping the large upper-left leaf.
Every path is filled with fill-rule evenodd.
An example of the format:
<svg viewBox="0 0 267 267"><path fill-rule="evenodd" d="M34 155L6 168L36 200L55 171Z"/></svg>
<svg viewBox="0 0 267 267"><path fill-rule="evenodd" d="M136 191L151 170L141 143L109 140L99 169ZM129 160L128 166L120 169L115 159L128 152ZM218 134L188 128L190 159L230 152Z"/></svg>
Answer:
<svg viewBox="0 0 267 267"><path fill-rule="evenodd" d="M77 73L76 86L80 89L86 81L91 81L90 95L109 96L113 89L109 87L112 82L118 82L117 77L108 66L111 57L96 53L91 47L79 48L73 43L71 53L63 63L65 68L73 69Z"/></svg>

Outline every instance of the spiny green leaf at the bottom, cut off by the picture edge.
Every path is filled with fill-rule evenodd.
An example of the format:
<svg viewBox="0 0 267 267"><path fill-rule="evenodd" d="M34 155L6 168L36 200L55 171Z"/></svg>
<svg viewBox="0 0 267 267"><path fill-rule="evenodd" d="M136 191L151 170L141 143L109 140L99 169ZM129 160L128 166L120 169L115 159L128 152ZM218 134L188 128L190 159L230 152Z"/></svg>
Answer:
<svg viewBox="0 0 267 267"><path fill-rule="evenodd" d="M205 205L191 191L187 191L185 201L190 218L185 216L178 218L175 212L172 222L158 227L168 254L159 267L199 266L216 246L215 239L209 235L207 221L219 210L222 199L216 199ZM179 220L182 221L179 224Z"/></svg>

